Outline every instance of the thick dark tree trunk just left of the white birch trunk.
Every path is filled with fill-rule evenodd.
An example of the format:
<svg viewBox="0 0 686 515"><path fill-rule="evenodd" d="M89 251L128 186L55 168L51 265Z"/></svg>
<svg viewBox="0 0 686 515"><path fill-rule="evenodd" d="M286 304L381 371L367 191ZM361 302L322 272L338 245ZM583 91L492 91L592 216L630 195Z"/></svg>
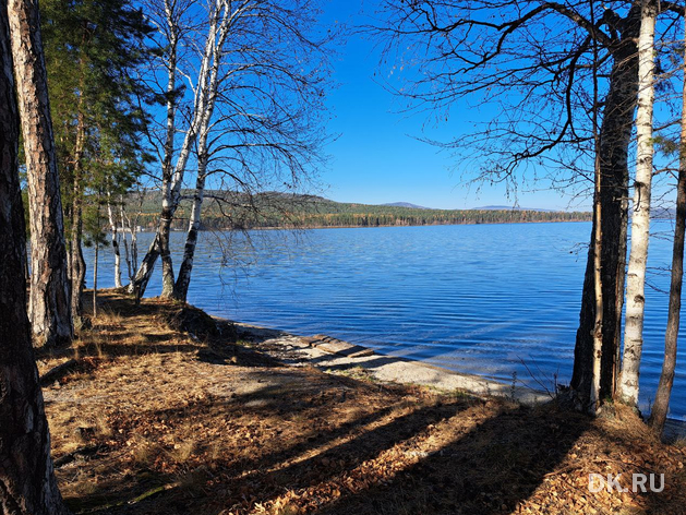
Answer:
<svg viewBox="0 0 686 515"><path fill-rule="evenodd" d="M603 285L601 402L614 396L619 371L628 224L628 148L638 93L636 39L640 28L640 9L633 8L621 28L622 39L613 50L614 64L610 77L610 93L605 99L600 132L600 204L603 241L601 249ZM571 388L581 404L588 402L592 383L595 323L594 232L595 224L591 232L571 376Z"/></svg>

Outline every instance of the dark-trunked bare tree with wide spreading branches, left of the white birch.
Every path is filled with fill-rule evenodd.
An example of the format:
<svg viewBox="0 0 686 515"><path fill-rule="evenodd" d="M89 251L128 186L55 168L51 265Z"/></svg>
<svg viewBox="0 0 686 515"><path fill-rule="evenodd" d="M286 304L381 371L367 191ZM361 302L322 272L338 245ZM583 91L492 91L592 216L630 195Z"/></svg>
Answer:
<svg viewBox="0 0 686 515"><path fill-rule="evenodd" d="M528 167L557 173L554 183L589 188L599 154L600 215L587 260L571 390L589 407L598 299L602 298L599 398L612 397L618 376L628 221L628 152L636 108L640 1L383 2L386 56L405 58L396 75L410 107L436 120L469 98L498 106L482 130L441 146L481 170L478 180L514 183ZM674 13L677 16L678 13ZM378 31L376 31L378 33ZM598 59L593 57L598 45ZM393 59L396 62L397 59ZM593 144L591 74L598 67L599 143ZM397 79L395 79L397 80ZM395 82L394 82L395 83ZM590 165L590 166L589 166ZM549 176L546 176L549 177ZM600 228L598 227L600 224ZM595 287L595 235L602 233L602 295Z"/></svg>

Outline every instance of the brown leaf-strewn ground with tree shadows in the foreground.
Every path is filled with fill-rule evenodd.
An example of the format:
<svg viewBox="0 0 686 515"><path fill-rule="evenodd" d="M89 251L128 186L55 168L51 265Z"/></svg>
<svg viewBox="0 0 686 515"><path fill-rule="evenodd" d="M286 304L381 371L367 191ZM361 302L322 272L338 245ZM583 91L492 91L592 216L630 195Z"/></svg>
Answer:
<svg viewBox="0 0 686 515"><path fill-rule="evenodd" d="M38 351L75 513L686 514L686 442L661 443L630 410L591 419L291 367L219 328L107 291L72 347ZM635 472L664 489L634 493ZM590 474L628 491L591 492Z"/></svg>

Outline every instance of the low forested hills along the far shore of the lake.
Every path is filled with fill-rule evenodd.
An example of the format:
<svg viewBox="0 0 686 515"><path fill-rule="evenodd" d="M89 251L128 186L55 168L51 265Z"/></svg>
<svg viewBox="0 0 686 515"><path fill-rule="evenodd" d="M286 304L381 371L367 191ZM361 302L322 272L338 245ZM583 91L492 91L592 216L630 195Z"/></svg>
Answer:
<svg viewBox="0 0 686 515"><path fill-rule="evenodd" d="M186 229L190 193L179 206L174 229ZM140 209L139 224L153 229L159 217L157 192L131 194L128 211ZM207 191L202 229L383 227L532 221L590 221L590 212L530 209L430 209L334 202L321 196L262 193L251 196Z"/></svg>

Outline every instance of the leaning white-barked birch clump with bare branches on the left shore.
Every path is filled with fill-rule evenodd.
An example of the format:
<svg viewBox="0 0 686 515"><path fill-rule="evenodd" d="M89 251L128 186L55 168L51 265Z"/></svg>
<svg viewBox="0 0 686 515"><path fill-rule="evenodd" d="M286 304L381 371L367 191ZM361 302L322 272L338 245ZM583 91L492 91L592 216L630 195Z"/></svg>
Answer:
<svg viewBox="0 0 686 515"><path fill-rule="evenodd" d="M167 25L178 24L170 21L170 12L165 9ZM316 14L316 2L310 0L299 0L292 4L278 1L215 0L206 11L208 23L203 26L207 32L204 35L204 45L200 47L202 52L196 59L190 60L192 71L183 71L184 64L188 68L188 60L181 63L176 58L167 59L167 62L177 62L180 68L177 71L167 65L170 77L167 91L177 89L171 77L179 73L188 83L192 101L186 116L188 125L178 151L172 147L173 139L170 137L173 131L167 131L164 140L160 153L161 213L155 240L130 286L131 291L143 295L159 256L163 262L163 297L185 298L212 156L231 152L234 156L254 153L264 156L265 149L272 156L289 154L292 157L297 154L293 152L296 145L292 141L285 143L279 136L294 127L302 129L303 125L294 120L308 118L309 113L322 107L321 76L324 67L311 64L313 55L323 55L323 48L318 47L322 41L311 40L305 36L308 31L313 29ZM168 48L171 49L172 46ZM281 101L285 89L291 92L299 103ZM167 128L171 119L169 113L178 107L168 105ZM214 118L218 109L221 112ZM287 125L288 129L285 129ZM224 129L219 129L220 127ZM237 143L237 135L239 140L244 140ZM297 141L304 142L308 137L310 133L303 131ZM221 139L233 141L226 143ZM301 143L301 146L304 147L305 144ZM242 153L237 152L239 147ZM167 163L171 163L170 153L176 156L173 172L166 167ZM176 279L169 233L181 200L186 167L193 155L197 165L196 188L184 260L180 277ZM243 159L239 169L248 160ZM236 163L239 161L240 158L236 159ZM266 165L266 169L274 166L265 161L262 165ZM291 171L296 173L298 167L292 167ZM240 172L226 171L227 177L238 175ZM234 182L240 183L240 180Z"/></svg>

